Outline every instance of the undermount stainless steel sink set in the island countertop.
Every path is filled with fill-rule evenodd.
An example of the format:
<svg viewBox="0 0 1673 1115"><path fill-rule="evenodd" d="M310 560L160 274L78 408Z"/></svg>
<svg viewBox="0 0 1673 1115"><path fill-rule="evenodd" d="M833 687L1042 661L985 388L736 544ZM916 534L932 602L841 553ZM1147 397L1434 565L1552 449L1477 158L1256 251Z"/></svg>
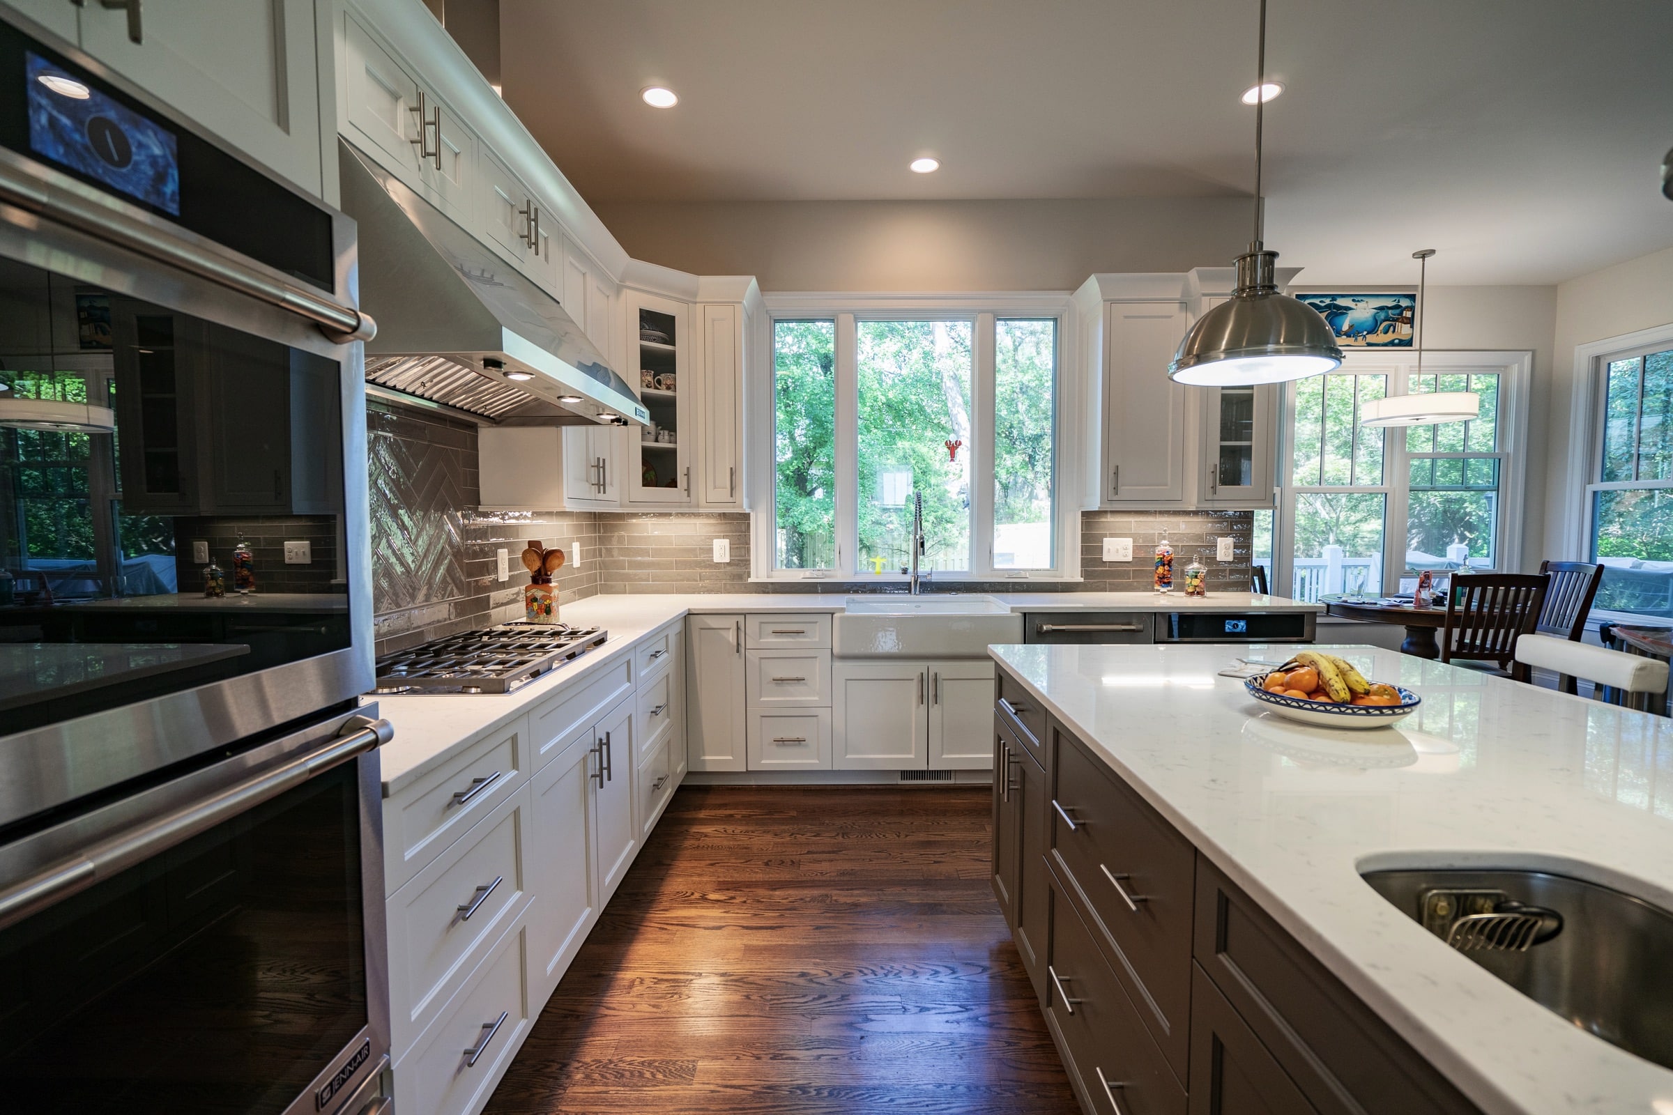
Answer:
<svg viewBox="0 0 1673 1115"><path fill-rule="evenodd" d="M1372 889L1546 1010L1673 1068L1673 913L1543 871L1367 871Z"/></svg>

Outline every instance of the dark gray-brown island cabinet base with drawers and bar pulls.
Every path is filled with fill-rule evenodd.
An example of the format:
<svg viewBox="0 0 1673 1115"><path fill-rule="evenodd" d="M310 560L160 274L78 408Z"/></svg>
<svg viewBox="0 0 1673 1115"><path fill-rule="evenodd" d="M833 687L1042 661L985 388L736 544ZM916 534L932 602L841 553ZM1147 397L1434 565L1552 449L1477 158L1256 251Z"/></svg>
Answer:
<svg viewBox="0 0 1673 1115"><path fill-rule="evenodd" d="M1004 665L994 894L1084 1112L1477 1108Z"/></svg>

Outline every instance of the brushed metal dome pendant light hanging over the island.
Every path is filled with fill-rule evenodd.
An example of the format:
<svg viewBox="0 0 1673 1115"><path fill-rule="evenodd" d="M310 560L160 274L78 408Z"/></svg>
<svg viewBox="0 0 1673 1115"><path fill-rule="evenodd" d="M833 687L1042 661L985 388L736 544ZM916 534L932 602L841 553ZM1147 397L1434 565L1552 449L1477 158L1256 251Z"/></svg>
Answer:
<svg viewBox="0 0 1673 1115"><path fill-rule="evenodd" d="M1255 89L1266 84L1266 0L1260 0L1260 50ZM1342 364L1330 326L1312 306L1278 293L1278 252L1261 244L1261 122L1266 99L1255 102L1255 239L1238 256L1231 298L1196 319L1179 343L1168 376L1210 388L1305 379Z"/></svg>

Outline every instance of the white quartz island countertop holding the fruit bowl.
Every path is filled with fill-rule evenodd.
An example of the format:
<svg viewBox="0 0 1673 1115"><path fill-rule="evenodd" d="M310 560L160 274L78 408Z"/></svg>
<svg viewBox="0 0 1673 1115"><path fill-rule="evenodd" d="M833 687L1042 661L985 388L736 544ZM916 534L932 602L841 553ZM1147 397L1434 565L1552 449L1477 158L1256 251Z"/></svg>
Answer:
<svg viewBox="0 0 1673 1115"><path fill-rule="evenodd" d="M1218 677L1233 655L1283 647L990 650L1486 1112L1673 1113L1673 1072L1522 996L1358 874L1541 868L1673 908L1673 720L1390 650L1333 652L1424 705L1395 729L1313 729Z"/></svg>

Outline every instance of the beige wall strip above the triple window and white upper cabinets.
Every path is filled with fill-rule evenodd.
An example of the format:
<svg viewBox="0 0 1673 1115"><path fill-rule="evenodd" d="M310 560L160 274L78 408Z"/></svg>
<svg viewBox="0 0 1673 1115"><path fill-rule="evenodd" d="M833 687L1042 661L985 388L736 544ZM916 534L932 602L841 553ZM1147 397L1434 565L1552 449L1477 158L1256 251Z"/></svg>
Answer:
<svg viewBox="0 0 1673 1115"><path fill-rule="evenodd" d="M763 291L1072 291L1096 271L1230 266L1243 199L596 202L634 259Z"/></svg>

